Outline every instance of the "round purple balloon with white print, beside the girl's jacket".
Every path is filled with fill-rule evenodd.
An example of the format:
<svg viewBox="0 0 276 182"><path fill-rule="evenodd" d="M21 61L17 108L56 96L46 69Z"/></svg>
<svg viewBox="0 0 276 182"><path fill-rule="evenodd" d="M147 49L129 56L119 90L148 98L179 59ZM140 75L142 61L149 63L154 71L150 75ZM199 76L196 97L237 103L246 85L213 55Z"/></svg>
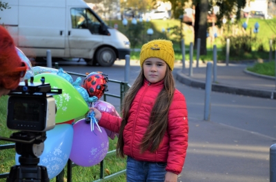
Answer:
<svg viewBox="0 0 276 182"><path fill-rule="evenodd" d="M108 152L108 136L106 131L97 125L91 131L90 123L81 119L73 125L74 136L69 158L77 165L90 167L100 163Z"/></svg>

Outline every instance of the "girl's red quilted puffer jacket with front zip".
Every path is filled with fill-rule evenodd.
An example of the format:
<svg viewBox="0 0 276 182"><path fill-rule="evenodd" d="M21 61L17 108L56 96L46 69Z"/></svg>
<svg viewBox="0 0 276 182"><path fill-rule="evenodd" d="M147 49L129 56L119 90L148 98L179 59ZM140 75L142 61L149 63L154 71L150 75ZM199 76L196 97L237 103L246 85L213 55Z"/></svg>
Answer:
<svg viewBox="0 0 276 182"><path fill-rule="evenodd" d="M168 129L156 152L148 150L141 154L139 143L149 124L150 112L157 95L164 87L164 81L144 82L132 102L128 123L124 128L124 154L137 161L166 162L166 170L179 174L183 168L188 148L188 112L184 95L175 90L168 113ZM102 113L99 125L113 132L119 132L121 119Z"/></svg>

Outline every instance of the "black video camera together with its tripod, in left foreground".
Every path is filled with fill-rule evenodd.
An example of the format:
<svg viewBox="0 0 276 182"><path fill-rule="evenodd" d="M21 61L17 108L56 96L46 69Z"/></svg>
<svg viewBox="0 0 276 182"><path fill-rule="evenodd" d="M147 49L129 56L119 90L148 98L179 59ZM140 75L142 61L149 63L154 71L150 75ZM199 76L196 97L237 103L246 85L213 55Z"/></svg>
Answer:
<svg viewBox="0 0 276 182"><path fill-rule="evenodd" d="M5 141L15 142L15 150L19 156L20 165L10 169L8 182L14 181L50 181L47 168L38 165L39 156L44 150L46 131L55 128L55 94L62 90L52 89L50 83L34 83L34 78L20 82L12 90L8 99L7 127L10 130L19 130L10 135L10 138L0 136Z"/></svg>

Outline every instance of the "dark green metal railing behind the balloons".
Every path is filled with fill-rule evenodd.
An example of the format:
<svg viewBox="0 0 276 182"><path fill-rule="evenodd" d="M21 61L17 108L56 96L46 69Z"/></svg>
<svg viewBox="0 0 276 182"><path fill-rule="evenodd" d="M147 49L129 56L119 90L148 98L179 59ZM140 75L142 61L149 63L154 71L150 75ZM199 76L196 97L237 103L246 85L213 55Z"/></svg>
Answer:
<svg viewBox="0 0 276 182"><path fill-rule="evenodd" d="M86 74L79 74L79 73L75 73L75 72L67 72L67 73L75 75L75 76L80 76L80 77L86 77L87 76ZM108 79L108 82L119 83L120 84L120 95L104 93L103 94L103 101L106 101L107 96L118 98L118 99L120 99L120 108L121 108L121 105L122 105L122 102L123 102L123 99L124 99L124 94L130 88L130 85L128 84L128 82L117 81L117 80L112 80L112 79ZM14 147L15 147L14 143L6 144L6 145L0 145L0 150L12 149ZM106 154L106 157L107 156L112 156L112 155L115 155L115 154L116 154L116 150L111 150L111 151L108 151L108 153ZM103 161L104 161L104 159L103 159ZM115 174L110 174L108 176L104 176L103 161L101 161L101 163L100 163L100 175L99 175L99 179L96 180L96 181L106 181L106 180L114 179L115 177L121 176L122 174L126 173L126 170L121 170L119 172L116 172ZM78 166L78 165L76 165L75 163L72 163L72 161L70 159L68 159L68 162L67 162L67 181L68 182L72 182L72 168L75 167L75 166ZM64 173L65 172L64 172L64 168L63 168L63 170L56 176L56 181L57 182L63 182L64 181ZM8 173L8 172L0 174L0 179L7 178L9 174L10 173Z"/></svg>

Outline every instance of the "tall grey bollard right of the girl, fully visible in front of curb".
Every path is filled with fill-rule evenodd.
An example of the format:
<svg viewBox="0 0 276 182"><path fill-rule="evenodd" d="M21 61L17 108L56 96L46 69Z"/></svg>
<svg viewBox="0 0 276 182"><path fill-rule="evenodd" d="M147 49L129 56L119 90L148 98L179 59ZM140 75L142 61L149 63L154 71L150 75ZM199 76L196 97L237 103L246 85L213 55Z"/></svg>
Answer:
<svg viewBox="0 0 276 182"><path fill-rule="evenodd" d="M212 67L213 64L211 62L207 63L206 67L206 81L205 81L205 103L204 103L204 120L210 120L210 94L212 91Z"/></svg>

